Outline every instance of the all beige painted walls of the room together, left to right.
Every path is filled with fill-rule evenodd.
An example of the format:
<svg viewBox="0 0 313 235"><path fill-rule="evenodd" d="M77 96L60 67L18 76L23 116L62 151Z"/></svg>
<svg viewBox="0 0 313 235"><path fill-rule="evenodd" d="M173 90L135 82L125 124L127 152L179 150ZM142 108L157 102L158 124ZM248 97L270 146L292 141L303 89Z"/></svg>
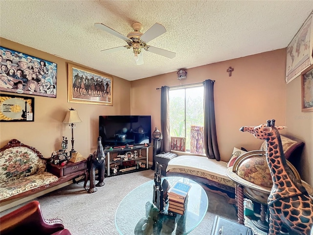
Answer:
<svg viewBox="0 0 313 235"><path fill-rule="evenodd" d="M84 156L96 149L99 115L151 115L152 130L160 129L161 86L177 86L215 80L215 112L221 158L228 161L233 147L258 149L261 141L239 128L276 119L287 125L288 134L306 142L301 158L302 179L313 185L312 113L301 113L299 78L286 85L286 49L269 51L220 63L188 69L187 79L176 72L136 81L113 77L113 106L67 103L67 63L54 55L1 38L1 46L57 63L57 98L35 97L35 122L0 123L0 145L15 138L35 146L45 157L60 148L62 136L70 139L70 129L62 123L68 108L75 108L82 123L74 130L75 149ZM71 63L71 62L69 62ZM84 65L82 65L84 66ZM226 69L234 68L232 76ZM140 67L138 67L140 69ZM180 68L177 68L178 70ZM103 68L103 72L105 72ZM311 117L306 119L294 117ZM310 128L308 128L310 127ZM284 133L284 132L282 132ZM152 161L152 149L149 154Z"/></svg>

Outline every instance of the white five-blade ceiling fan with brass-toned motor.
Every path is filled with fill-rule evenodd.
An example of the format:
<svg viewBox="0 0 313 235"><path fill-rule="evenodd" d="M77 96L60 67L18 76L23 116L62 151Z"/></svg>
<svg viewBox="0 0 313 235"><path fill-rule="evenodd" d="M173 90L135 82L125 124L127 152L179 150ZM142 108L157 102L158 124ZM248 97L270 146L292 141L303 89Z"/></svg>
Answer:
<svg viewBox="0 0 313 235"><path fill-rule="evenodd" d="M104 51L105 53L111 53L115 51L127 50L130 48L133 48L134 60L136 62L136 65L143 64L143 55L142 55L143 50L142 49L146 51L150 51L158 55L165 56L170 59L173 59L176 56L175 52L147 45L148 42L150 42L151 40L155 39L156 37L166 32L165 27L161 24L156 23L151 28L149 28L145 33L142 33L141 32L143 28L142 24L134 23L133 24L134 32L130 32L129 34L127 34L127 36L124 36L123 34L101 23L95 23L94 26L108 33L111 33L112 35L116 37L123 39L128 44L126 46L113 47L113 48L104 49L101 51Z"/></svg>

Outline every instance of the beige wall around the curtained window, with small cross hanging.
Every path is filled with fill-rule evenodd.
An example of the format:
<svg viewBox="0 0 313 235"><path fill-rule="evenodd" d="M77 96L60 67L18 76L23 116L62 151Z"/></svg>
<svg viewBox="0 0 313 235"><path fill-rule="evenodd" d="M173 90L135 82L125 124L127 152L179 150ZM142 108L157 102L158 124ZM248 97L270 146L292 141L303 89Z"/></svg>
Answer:
<svg viewBox="0 0 313 235"><path fill-rule="evenodd" d="M227 68L234 68L228 76ZM275 118L285 124L286 51L275 50L187 70L187 79L167 73L132 82L132 113L152 115L153 127L160 127L161 86L177 86L215 80L214 100L221 159L228 161L233 147L258 149L261 140L239 131L244 125L259 125ZM178 68L179 69L179 68Z"/></svg>

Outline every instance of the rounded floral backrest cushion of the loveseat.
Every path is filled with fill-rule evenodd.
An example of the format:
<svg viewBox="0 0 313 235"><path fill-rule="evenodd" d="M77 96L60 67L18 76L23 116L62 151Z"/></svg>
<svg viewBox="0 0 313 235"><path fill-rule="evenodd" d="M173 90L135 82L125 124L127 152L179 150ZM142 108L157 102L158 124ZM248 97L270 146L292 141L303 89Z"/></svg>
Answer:
<svg viewBox="0 0 313 235"><path fill-rule="evenodd" d="M0 182L42 173L45 168L45 160L27 147L12 147L0 152Z"/></svg>

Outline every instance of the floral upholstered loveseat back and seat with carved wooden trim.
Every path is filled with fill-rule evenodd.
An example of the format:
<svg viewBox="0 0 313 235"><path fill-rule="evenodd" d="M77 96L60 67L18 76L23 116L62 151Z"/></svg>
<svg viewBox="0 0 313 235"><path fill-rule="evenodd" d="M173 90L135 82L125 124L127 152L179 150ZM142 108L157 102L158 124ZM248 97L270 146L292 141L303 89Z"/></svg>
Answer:
<svg viewBox="0 0 313 235"><path fill-rule="evenodd" d="M34 147L13 139L0 149L0 202L28 196L58 184Z"/></svg>

